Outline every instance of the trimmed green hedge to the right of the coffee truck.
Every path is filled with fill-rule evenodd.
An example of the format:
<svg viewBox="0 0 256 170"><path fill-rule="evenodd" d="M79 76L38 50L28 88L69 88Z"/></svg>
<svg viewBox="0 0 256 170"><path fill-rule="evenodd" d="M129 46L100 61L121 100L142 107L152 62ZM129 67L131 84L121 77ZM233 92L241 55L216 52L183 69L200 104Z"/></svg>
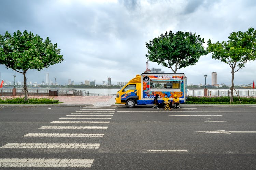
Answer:
<svg viewBox="0 0 256 170"><path fill-rule="evenodd" d="M242 104L256 104L256 98L254 97L239 97ZM188 96L186 104L229 104L229 96L221 97L195 97ZM234 102L231 104L240 104L238 97L234 97Z"/></svg>

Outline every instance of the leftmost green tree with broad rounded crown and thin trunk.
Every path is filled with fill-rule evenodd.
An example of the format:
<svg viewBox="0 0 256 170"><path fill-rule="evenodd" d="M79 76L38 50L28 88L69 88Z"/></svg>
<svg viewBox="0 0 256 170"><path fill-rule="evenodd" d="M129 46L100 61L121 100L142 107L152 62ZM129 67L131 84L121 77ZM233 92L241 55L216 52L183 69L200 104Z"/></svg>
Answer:
<svg viewBox="0 0 256 170"><path fill-rule="evenodd" d="M64 59L59 54L57 44L52 44L48 37L43 41L40 36L26 30L23 33L18 30L13 36L7 31L0 35L0 64L23 74L25 101L28 100L26 72L29 69L40 71L60 63Z"/></svg>

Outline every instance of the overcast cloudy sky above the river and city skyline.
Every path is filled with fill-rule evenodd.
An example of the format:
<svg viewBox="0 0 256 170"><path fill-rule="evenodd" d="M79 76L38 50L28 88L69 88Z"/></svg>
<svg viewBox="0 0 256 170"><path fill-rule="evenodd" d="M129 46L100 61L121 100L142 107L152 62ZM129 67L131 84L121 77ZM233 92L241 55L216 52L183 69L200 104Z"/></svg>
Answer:
<svg viewBox="0 0 256 170"><path fill-rule="evenodd" d="M49 37L61 49L64 61L47 69L27 72L28 81L41 83L45 73L59 84L68 79L103 84L127 82L146 69L145 43L166 31L188 31L205 42L227 41L231 32L256 28L255 0L1 0L0 34L17 30ZM206 47L206 43L204 47ZM235 84L256 81L256 61L235 73ZM149 68L161 68L149 62ZM23 75L0 65L1 79L22 81ZM217 72L218 84L231 84L231 68L211 54L202 56L194 66L179 69L188 84L211 84Z"/></svg>

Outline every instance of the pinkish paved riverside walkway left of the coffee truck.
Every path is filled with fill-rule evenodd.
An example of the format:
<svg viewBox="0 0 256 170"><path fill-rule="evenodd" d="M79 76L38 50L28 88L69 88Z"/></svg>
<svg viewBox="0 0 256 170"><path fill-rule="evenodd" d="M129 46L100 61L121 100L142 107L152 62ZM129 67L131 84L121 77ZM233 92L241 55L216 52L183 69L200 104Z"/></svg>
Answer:
<svg viewBox="0 0 256 170"><path fill-rule="evenodd" d="M1 96L15 98L19 96ZM30 98L53 98L59 100L60 106L111 106L115 104L115 96L30 96ZM1 104L4 105L4 104Z"/></svg>

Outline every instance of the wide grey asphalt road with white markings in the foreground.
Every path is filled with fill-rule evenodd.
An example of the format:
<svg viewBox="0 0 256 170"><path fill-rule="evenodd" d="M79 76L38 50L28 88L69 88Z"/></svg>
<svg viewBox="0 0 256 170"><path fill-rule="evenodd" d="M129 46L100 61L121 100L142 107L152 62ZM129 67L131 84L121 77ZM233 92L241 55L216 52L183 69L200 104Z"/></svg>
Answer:
<svg viewBox="0 0 256 170"><path fill-rule="evenodd" d="M0 169L256 169L256 107L181 108L0 107Z"/></svg>

